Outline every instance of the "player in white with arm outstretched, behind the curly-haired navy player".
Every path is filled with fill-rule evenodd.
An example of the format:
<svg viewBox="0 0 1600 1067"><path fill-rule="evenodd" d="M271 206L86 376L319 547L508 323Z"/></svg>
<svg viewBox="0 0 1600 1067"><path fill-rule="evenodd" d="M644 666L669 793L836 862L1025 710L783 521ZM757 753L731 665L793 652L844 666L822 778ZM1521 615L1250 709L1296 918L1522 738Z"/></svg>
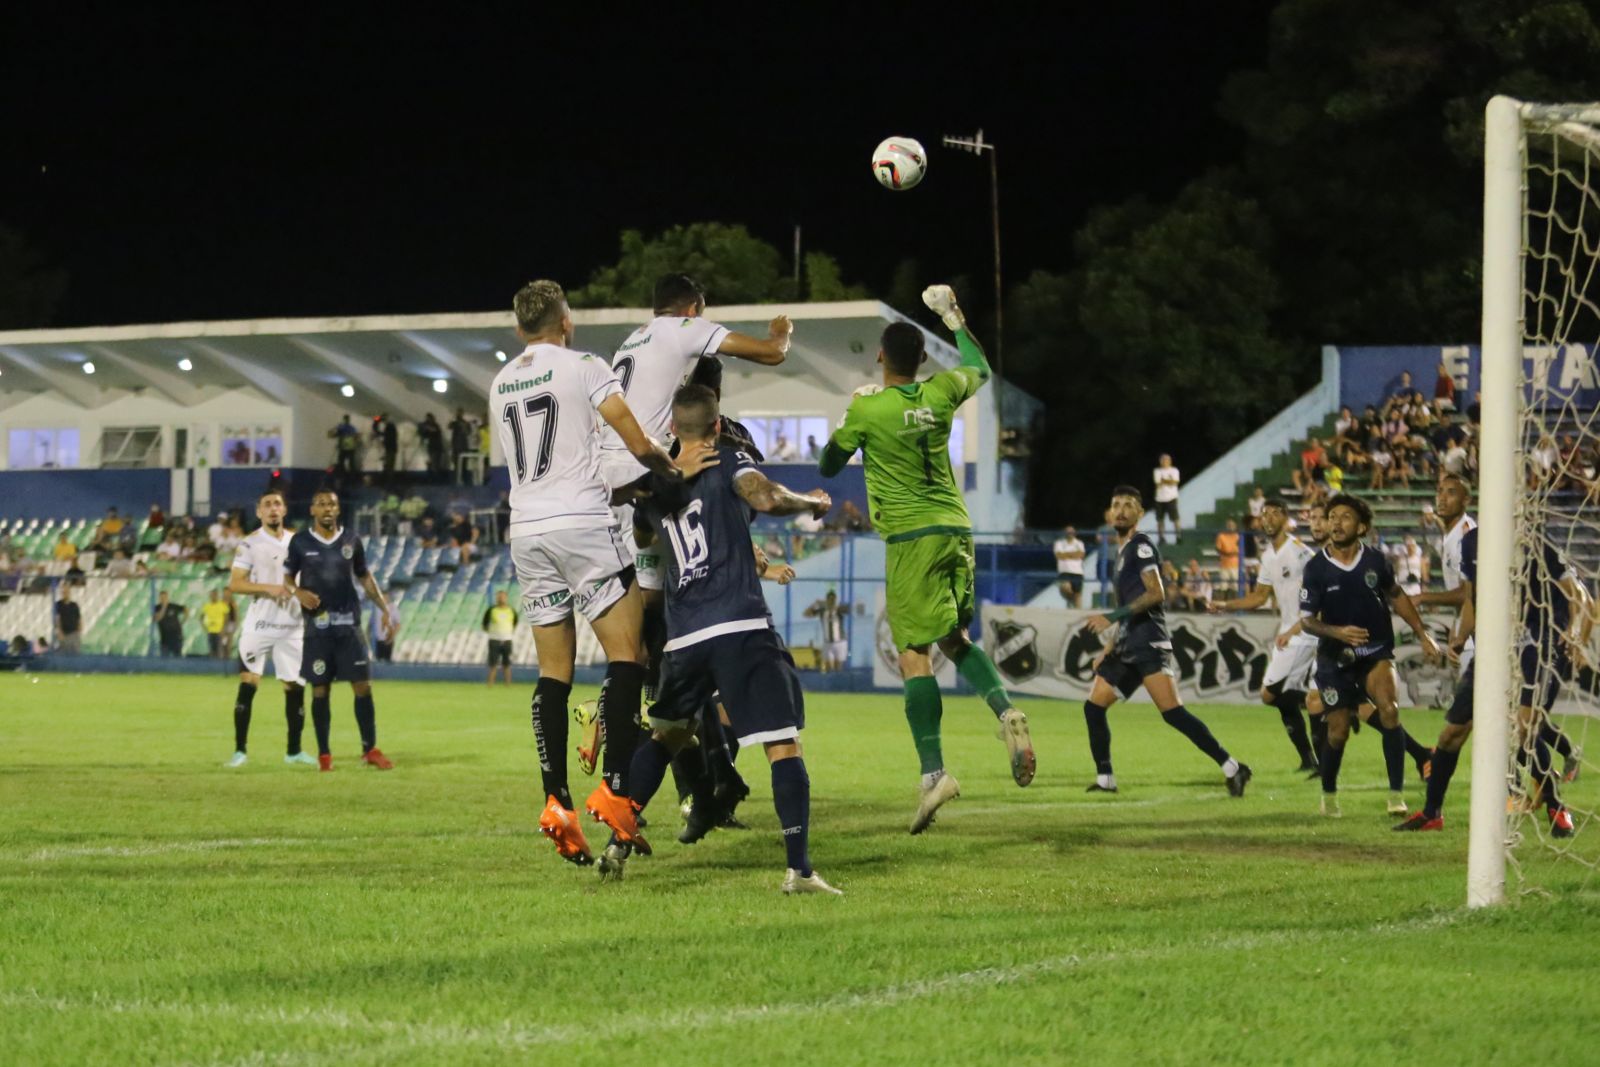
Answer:
<svg viewBox="0 0 1600 1067"><path fill-rule="evenodd" d="M1310 737L1306 736L1306 693L1312 686L1317 665L1317 638L1301 630L1299 585L1306 561L1315 550L1290 534L1290 506L1272 498L1261 509L1261 528L1269 541L1261 550L1261 579L1245 597L1219 600L1210 611L1243 611L1262 608L1269 600L1278 605L1278 635L1272 643L1272 659L1261 680L1261 702L1278 709L1283 729L1299 753L1302 771L1317 769Z"/></svg>

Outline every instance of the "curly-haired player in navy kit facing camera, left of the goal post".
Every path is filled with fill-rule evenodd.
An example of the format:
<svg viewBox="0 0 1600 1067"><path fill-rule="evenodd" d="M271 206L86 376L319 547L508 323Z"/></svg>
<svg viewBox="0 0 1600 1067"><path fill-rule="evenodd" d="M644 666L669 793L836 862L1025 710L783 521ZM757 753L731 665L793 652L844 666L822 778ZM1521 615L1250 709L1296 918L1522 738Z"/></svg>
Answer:
<svg viewBox="0 0 1600 1067"><path fill-rule="evenodd" d="M1371 509L1339 493L1328 501L1328 547L1306 565L1301 577L1301 627L1318 638L1317 686L1328 720L1328 749L1322 758L1322 811L1338 817L1339 766L1350 736L1350 718L1363 702L1384 736L1389 768L1389 814L1405 814L1405 755L1408 734L1400 725L1395 635L1390 606L1422 646L1438 657L1438 646L1422 625L1416 603L1395 582L1384 553L1362 544L1373 525Z"/></svg>

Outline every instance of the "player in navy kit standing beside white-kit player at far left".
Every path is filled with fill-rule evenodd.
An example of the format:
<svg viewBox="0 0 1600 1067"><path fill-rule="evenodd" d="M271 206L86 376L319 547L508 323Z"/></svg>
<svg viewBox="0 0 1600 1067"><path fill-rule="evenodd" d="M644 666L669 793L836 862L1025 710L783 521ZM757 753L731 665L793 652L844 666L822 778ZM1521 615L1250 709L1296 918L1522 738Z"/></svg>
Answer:
<svg viewBox="0 0 1600 1067"><path fill-rule="evenodd" d="M374 609L389 617L389 600L366 569L366 552L355 531L339 525L339 494L318 490L310 499L309 530L290 537L283 558L283 587L299 600L304 617L301 673L310 683L310 721L317 731L317 765L333 769L328 731L333 726L330 689L338 680L355 694L355 726L362 734L362 763L394 768L378 749L378 712L373 707L371 654L362 633L360 579Z"/></svg>

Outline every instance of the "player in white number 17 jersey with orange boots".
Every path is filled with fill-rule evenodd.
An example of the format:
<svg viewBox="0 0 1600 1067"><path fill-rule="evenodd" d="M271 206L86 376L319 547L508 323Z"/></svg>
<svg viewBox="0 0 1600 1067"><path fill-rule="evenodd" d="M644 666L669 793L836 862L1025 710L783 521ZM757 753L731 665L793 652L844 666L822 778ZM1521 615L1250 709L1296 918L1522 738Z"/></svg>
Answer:
<svg viewBox="0 0 1600 1067"><path fill-rule="evenodd" d="M560 285L530 282L517 293L514 309L517 336L528 347L494 376L490 403L510 474L510 555L539 661L533 694L546 793L539 830L555 841L563 859L584 865L594 862L594 853L566 787L574 606L589 619L608 662L600 689L605 781L586 806L619 841L650 851L638 837L637 809L624 781L638 739L643 614L632 553L622 545L600 475L600 422L616 430L643 469L682 475L640 429L605 360L568 347L573 318Z"/></svg>

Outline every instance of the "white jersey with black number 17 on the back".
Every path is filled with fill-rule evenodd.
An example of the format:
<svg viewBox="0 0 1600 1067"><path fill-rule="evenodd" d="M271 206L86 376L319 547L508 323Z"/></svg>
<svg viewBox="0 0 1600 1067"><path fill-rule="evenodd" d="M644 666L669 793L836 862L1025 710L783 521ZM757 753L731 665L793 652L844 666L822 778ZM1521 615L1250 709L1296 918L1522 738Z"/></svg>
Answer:
<svg viewBox="0 0 1600 1067"><path fill-rule="evenodd" d="M510 472L512 537L613 525L600 477L600 416L622 392L605 360L530 344L490 386L490 418Z"/></svg>

